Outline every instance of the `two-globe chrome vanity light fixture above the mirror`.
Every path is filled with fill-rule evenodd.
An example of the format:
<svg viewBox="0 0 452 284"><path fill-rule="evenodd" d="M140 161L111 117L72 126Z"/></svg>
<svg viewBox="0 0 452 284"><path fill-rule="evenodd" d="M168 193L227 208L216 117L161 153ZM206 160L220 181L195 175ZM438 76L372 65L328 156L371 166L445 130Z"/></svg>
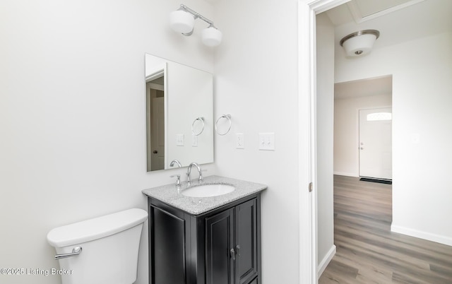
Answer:
<svg viewBox="0 0 452 284"><path fill-rule="evenodd" d="M209 24L201 33L201 41L208 47L220 45L222 32L215 28L213 21L202 16L200 13L191 10L191 8L181 4L177 11L172 11L169 15L169 25L174 32L180 32L182 35L189 36L193 34L195 20L199 18Z"/></svg>

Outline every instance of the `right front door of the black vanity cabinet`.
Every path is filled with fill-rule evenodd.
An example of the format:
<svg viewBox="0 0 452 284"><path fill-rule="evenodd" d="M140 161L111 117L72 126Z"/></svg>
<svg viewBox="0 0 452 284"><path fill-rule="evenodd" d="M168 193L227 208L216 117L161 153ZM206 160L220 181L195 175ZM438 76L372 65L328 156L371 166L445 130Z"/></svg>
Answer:
<svg viewBox="0 0 452 284"><path fill-rule="evenodd" d="M235 284L250 283L258 275L257 201L235 208Z"/></svg>

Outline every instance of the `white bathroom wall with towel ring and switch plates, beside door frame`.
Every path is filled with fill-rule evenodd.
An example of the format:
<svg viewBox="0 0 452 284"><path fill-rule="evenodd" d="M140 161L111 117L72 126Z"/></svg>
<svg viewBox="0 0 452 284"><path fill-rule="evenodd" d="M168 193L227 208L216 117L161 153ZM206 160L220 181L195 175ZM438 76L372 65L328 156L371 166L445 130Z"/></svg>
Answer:
<svg viewBox="0 0 452 284"><path fill-rule="evenodd" d="M219 1L214 113L232 128L215 136L219 174L268 184L262 196L262 283L298 283L297 1ZM275 151L258 133L275 133ZM235 134L244 134L244 149ZM309 228L306 228L309 230Z"/></svg>

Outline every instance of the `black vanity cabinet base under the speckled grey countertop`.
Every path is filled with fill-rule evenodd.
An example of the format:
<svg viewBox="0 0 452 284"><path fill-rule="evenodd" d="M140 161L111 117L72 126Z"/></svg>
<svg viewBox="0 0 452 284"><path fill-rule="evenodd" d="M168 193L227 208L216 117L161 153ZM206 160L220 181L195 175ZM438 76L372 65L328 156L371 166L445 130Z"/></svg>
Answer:
<svg viewBox="0 0 452 284"><path fill-rule="evenodd" d="M193 215L149 197L149 282L259 284L260 201L252 194Z"/></svg>

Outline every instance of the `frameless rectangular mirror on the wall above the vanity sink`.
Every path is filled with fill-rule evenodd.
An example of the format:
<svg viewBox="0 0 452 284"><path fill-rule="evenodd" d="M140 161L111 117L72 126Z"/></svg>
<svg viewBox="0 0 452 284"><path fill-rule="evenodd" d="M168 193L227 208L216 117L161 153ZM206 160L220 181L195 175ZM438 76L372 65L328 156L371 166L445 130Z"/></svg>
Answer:
<svg viewBox="0 0 452 284"><path fill-rule="evenodd" d="M213 162L213 74L145 54L145 83L148 172Z"/></svg>

